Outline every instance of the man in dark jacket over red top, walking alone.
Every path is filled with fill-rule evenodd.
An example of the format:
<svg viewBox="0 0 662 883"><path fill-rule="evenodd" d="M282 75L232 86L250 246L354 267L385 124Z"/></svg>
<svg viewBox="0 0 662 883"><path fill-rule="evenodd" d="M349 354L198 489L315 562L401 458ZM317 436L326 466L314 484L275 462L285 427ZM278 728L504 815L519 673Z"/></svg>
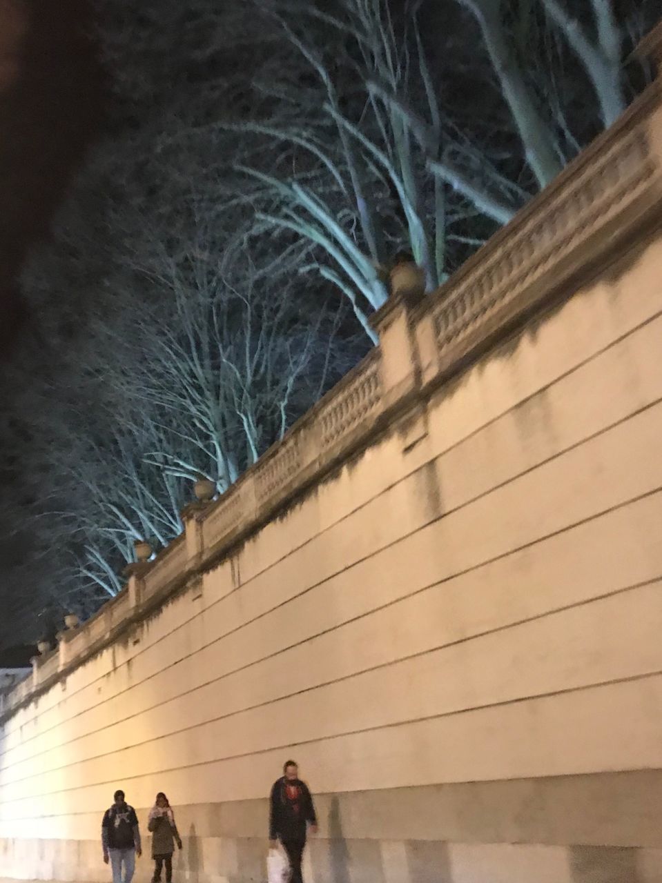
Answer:
<svg viewBox="0 0 662 883"><path fill-rule="evenodd" d="M271 849L283 844L290 863L291 883L303 883L301 859L306 847L308 826L317 833L317 818L308 785L299 778L299 767L288 760L284 775L271 788L269 840Z"/></svg>

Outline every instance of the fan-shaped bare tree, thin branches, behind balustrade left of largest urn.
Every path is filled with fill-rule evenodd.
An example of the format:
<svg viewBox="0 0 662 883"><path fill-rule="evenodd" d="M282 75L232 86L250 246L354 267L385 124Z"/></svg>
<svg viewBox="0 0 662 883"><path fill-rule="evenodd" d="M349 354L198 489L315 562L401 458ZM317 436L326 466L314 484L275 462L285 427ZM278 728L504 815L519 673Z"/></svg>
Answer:
<svg viewBox="0 0 662 883"><path fill-rule="evenodd" d="M123 354L112 376L126 402L146 407L186 449L155 451L151 462L188 479L205 474L220 491L355 358L352 347L343 357L337 341L339 305L305 310L296 278L258 271L247 236L235 245L222 260L208 223L176 253L153 238L148 260L130 260L159 290L163 310L130 315L125 333L97 329Z"/></svg>

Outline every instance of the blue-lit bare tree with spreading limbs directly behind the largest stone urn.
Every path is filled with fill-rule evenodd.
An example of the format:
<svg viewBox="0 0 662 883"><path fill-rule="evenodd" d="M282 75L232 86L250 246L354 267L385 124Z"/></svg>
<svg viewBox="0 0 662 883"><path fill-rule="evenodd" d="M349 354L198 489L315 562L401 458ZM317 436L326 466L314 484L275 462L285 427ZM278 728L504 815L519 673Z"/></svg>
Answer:
<svg viewBox="0 0 662 883"><path fill-rule="evenodd" d="M258 202L258 217L316 246L309 266L343 292L374 340L368 311L386 298L380 268L407 245L425 268L430 290L436 287L445 277L448 219L442 186L434 188L429 210L429 176L407 124L369 88L385 82L407 94L410 80L418 78L434 108L429 72L424 64L413 68L384 4L340 5L336 16L309 4L299 24L293 7L270 8L290 46L287 64L278 58L285 75L268 67L255 79L270 114L217 127L282 146L275 169L240 165L271 200L271 208ZM311 74L311 86L302 88Z"/></svg>

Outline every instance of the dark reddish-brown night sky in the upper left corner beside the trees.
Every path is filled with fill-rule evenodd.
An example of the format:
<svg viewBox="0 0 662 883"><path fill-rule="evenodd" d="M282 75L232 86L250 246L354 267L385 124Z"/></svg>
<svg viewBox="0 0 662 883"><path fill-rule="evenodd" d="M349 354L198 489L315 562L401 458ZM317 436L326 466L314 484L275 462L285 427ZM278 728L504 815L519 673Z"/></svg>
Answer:
<svg viewBox="0 0 662 883"><path fill-rule="evenodd" d="M28 320L16 285L103 118L85 0L0 0L0 358Z"/></svg>

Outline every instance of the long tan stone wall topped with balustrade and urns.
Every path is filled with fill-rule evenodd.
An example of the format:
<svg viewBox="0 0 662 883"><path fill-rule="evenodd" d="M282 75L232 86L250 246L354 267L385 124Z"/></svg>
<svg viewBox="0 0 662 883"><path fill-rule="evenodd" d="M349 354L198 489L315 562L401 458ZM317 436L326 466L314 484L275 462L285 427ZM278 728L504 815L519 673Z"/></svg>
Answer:
<svg viewBox="0 0 662 883"><path fill-rule="evenodd" d="M661 221L656 83L35 662L0 877L104 879L121 786L263 880L293 756L314 883L660 883Z"/></svg>

